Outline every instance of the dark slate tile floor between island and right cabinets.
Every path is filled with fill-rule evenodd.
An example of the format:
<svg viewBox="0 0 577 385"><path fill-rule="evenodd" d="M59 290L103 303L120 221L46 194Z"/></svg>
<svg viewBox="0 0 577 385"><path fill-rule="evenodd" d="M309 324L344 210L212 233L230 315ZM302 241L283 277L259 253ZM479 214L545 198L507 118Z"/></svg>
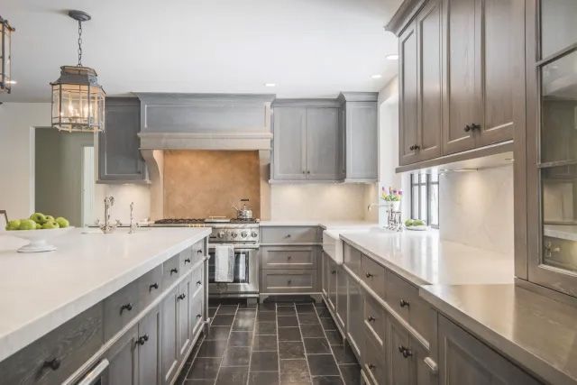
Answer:
<svg viewBox="0 0 577 385"><path fill-rule="evenodd" d="M177 385L361 384L361 367L324 304L211 304L214 316Z"/></svg>

